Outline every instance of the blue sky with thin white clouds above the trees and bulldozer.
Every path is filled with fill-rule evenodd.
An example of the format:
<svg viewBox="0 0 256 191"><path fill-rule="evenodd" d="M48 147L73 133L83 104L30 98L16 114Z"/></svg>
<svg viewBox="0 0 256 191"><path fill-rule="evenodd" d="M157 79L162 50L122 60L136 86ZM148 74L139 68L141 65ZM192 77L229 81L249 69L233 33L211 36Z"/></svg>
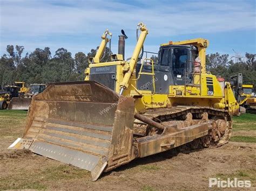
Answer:
<svg viewBox="0 0 256 191"><path fill-rule="evenodd" d="M136 26L149 30L144 49L158 52L169 41L206 38L207 53L256 53L255 0L0 0L0 55L6 45L22 45L24 53L50 47L52 55L66 48L75 56L88 53L109 29L112 52L124 30L126 57L136 45Z"/></svg>

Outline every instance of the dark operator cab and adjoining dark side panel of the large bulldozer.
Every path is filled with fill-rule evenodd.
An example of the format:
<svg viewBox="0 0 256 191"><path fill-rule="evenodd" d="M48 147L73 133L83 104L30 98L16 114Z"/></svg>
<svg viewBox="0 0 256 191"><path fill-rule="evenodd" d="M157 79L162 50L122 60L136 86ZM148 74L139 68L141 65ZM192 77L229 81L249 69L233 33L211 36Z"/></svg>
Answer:
<svg viewBox="0 0 256 191"><path fill-rule="evenodd" d="M198 49L193 45L160 46L158 63L154 63L156 93L168 94L169 86L192 83L193 62L197 57ZM141 66L141 63L137 64L137 77ZM151 73L152 65L144 63L142 72ZM140 75L137 88L152 91L152 76Z"/></svg>

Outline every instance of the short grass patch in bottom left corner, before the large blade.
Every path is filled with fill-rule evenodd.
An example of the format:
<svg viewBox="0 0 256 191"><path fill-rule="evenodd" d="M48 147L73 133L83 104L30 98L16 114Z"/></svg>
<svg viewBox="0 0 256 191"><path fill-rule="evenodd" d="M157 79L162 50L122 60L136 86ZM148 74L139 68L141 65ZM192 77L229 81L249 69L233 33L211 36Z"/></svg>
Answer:
<svg viewBox="0 0 256 191"><path fill-rule="evenodd" d="M25 174L25 175L24 175ZM90 176L89 171L69 166L50 166L41 172L20 172L15 176L2 177L0 181L1 189L47 189L48 182L66 181L80 179Z"/></svg>

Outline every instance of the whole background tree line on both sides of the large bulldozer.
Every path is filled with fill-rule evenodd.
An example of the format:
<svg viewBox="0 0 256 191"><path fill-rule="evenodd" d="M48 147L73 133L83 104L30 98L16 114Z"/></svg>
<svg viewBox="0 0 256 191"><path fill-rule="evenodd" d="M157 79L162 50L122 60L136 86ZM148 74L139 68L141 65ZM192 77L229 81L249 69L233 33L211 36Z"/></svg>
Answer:
<svg viewBox="0 0 256 191"><path fill-rule="evenodd" d="M98 48L98 47L97 47ZM72 58L65 48L59 48L52 54L49 47L36 48L24 56L23 46L8 45L6 54L0 60L0 84L11 84L14 81L30 83L49 83L62 81L80 81L84 79L84 70L89 65L89 58L95 56L96 49L85 54L78 52ZM208 54L206 67L214 75L220 75L226 80L232 75L242 73L244 83L256 85L256 54L246 53L244 57L231 58L228 54ZM109 58L106 49L102 61Z"/></svg>

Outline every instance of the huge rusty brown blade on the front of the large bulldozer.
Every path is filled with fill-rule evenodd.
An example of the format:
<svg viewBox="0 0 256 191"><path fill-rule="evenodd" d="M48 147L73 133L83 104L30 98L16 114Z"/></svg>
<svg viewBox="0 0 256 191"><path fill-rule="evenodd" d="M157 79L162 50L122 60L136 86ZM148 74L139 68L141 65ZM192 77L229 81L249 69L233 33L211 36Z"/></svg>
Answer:
<svg viewBox="0 0 256 191"><path fill-rule="evenodd" d="M115 158L129 159L134 100L95 81L52 83L33 96L25 132L9 148L28 148L91 171L92 180Z"/></svg>

